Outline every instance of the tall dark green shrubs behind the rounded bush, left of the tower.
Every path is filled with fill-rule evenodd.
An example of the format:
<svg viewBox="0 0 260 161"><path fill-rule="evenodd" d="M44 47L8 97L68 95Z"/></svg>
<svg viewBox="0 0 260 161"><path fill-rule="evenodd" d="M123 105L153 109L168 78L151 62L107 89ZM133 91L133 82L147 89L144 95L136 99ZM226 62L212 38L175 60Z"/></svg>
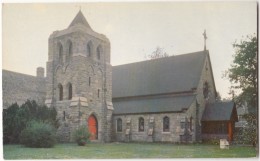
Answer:
<svg viewBox="0 0 260 161"><path fill-rule="evenodd" d="M19 106L14 103L3 111L4 144L19 143L21 131L31 120L48 122L58 128L57 112L54 108L40 106L35 101L27 100Z"/></svg>

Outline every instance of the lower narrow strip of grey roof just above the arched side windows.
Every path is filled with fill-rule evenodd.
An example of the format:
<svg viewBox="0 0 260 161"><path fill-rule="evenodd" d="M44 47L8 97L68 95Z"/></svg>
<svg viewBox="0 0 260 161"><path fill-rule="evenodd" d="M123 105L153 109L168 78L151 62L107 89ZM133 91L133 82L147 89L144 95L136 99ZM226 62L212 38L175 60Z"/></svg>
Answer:
<svg viewBox="0 0 260 161"><path fill-rule="evenodd" d="M120 99L113 101L114 114L180 112L190 107L195 100L195 95L161 97L161 98L138 98L131 100Z"/></svg>

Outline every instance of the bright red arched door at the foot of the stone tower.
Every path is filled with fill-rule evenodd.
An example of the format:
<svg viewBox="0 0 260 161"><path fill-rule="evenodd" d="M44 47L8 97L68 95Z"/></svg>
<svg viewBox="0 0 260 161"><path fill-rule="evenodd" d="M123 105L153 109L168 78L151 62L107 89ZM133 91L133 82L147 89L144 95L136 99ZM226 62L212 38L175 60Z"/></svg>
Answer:
<svg viewBox="0 0 260 161"><path fill-rule="evenodd" d="M91 115L88 118L88 130L91 134L90 140L97 140L98 139L98 122L94 115Z"/></svg>

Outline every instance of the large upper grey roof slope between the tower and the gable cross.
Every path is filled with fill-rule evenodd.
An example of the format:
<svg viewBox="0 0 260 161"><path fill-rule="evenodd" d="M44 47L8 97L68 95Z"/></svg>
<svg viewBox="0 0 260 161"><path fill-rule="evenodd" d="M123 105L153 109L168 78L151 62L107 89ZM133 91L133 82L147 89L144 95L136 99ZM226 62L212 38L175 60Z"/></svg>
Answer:
<svg viewBox="0 0 260 161"><path fill-rule="evenodd" d="M113 98L190 91L199 83L208 51L113 67Z"/></svg>

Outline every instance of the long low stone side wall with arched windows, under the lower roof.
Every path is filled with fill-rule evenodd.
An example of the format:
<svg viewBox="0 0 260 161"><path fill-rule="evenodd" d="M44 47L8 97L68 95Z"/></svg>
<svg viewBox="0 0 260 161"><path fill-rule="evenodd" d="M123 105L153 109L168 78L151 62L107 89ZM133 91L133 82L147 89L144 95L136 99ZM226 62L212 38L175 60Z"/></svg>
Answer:
<svg viewBox="0 0 260 161"><path fill-rule="evenodd" d="M194 103L193 103L194 104ZM193 105L192 105L193 106ZM191 107L193 108L193 107ZM185 129L181 127L181 122L189 124L189 119L191 111L186 111L182 113L158 113L158 114L135 114L135 115L114 115L113 116L113 140L119 142L182 142L181 136L185 135L185 130L188 130L188 135L191 138L187 142L194 142L194 130L195 123L192 125L192 130ZM169 132L163 132L163 118L167 116L170 119L170 129ZM144 118L144 131L139 131L139 118ZM117 119L122 119L122 132L117 132ZM154 118L153 122L153 134L149 135L149 129L151 128L150 118ZM131 120L130 124L127 120ZM126 129L130 127L129 135L126 134Z"/></svg>

